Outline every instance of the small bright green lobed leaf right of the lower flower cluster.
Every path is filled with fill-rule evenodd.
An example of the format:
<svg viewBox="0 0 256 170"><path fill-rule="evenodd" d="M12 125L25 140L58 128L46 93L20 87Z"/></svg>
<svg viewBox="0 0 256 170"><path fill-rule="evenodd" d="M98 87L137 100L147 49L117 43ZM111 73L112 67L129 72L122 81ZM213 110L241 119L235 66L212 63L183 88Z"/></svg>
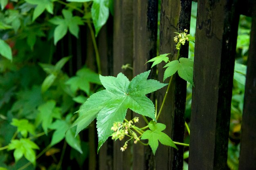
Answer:
<svg viewBox="0 0 256 170"><path fill-rule="evenodd" d="M155 123L152 120L148 124L148 127L150 130L146 130L146 132L142 134L141 139L148 139L148 144L150 145L154 155L158 147L158 141L163 145L171 146L175 149L178 149L171 140L171 138L164 132L161 132L166 128L164 124Z"/></svg>

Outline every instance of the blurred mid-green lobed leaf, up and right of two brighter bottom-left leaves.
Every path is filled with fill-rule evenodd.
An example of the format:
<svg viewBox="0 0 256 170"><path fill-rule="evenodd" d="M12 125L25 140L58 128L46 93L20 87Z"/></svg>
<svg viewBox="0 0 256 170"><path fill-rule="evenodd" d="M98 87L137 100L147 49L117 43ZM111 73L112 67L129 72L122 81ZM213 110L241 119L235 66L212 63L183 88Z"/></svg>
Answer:
<svg viewBox="0 0 256 170"><path fill-rule="evenodd" d="M61 110L55 105L56 101L50 100L38 107L39 113L36 118L36 125L42 123L42 127L45 134L48 134L47 130L49 126L52 124L52 120L54 118L61 119Z"/></svg>

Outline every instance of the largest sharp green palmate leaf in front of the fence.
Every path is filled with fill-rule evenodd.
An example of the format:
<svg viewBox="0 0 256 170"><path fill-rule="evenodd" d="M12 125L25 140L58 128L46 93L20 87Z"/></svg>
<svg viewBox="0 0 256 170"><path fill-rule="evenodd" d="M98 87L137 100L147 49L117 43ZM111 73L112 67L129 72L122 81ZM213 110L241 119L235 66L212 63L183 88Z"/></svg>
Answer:
<svg viewBox="0 0 256 170"><path fill-rule="evenodd" d="M112 134L113 123L123 122L128 108L155 120L155 106L145 95L167 84L147 80L149 73L141 73L132 81L122 73L117 77L100 75L100 81L106 89L92 94L81 106L79 118L74 123L77 125L76 135L97 117L99 151Z"/></svg>

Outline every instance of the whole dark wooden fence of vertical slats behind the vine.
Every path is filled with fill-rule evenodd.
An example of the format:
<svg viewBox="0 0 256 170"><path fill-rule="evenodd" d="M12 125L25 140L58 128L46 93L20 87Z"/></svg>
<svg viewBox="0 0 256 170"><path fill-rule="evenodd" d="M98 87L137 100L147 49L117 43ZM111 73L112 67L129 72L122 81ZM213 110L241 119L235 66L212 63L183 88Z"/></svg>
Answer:
<svg viewBox="0 0 256 170"><path fill-rule="evenodd" d="M110 17L97 37L102 74L117 76L124 72L131 79L149 70L150 65L144 64L156 56L158 0L114 0L114 3L113 18ZM239 169L256 168L256 1L198 0L189 170L228 169L229 121L240 14L252 17L252 31ZM159 54L171 53L170 59L175 60L174 32L188 29L190 17L191 0L162 0ZM74 70L84 62L96 69L90 32L85 27L83 30L79 40L72 40L72 49L65 52L76 55L70 64L70 74L74 74ZM188 44L182 47L180 55L188 56ZM133 70L121 69L125 64L130 64ZM161 66L157 77L159 81L163 80L164 73ZM155 74L150 76L156 77ZM179 76L174 78L159 122L166 124L165 132L174 141L183 142L186 82ZM161 105L165 91L163 88L157 93L158 105ZM131 167L133 170L181 170L183 167L182 146L175 150L159 145L153 156L148 146L133 145L126 152L121 152L120 147L124 143L113 143L108 139L97 155L97 131L93 123L86 133L90 143L87 166L90 170L130 170Z"/></svg>

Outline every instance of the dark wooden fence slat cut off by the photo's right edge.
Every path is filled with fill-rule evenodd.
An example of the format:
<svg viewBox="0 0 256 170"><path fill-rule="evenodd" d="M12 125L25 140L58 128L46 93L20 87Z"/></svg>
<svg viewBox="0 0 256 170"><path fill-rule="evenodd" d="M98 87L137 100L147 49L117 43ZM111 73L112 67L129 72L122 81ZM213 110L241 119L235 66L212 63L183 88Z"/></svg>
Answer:
<svg viewBox="0 0 256 170"><path fill-rule="evenodd" d="M256 7L256 6L255 6ZM252 18L242 119L240 170L256 167L256 17Z"/></svg>

